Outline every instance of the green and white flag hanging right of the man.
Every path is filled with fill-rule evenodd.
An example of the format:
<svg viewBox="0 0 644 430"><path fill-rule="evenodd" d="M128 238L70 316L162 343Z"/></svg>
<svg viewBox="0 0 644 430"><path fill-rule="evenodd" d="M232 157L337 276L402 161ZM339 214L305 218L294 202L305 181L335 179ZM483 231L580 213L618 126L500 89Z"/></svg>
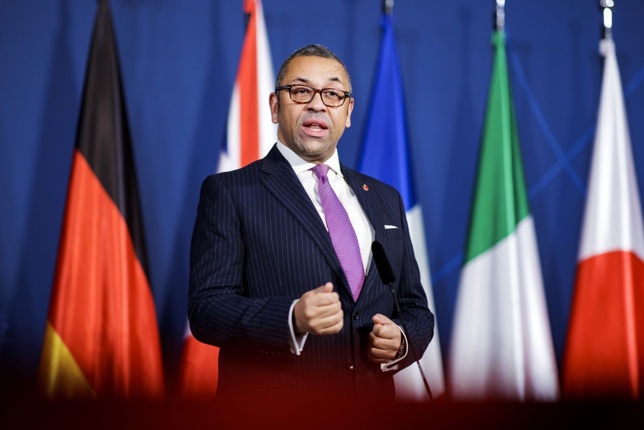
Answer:
<svg viewBox="0 0 644 430"><path fill-rule="evenodd" d="M558 375L507 74L503 30L451 338L457 400L556 400Z"/></svg>

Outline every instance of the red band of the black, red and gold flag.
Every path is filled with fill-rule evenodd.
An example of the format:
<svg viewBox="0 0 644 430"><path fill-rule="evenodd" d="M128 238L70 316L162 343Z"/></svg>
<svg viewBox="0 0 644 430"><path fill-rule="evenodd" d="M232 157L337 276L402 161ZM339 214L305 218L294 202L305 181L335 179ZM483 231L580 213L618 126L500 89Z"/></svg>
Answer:
<svg viewBox="0 0 644 430"><path fill-rule="evenodd" d="M49 320L99 397L160 397L155 306L128 224L76 150Z"/></svg>

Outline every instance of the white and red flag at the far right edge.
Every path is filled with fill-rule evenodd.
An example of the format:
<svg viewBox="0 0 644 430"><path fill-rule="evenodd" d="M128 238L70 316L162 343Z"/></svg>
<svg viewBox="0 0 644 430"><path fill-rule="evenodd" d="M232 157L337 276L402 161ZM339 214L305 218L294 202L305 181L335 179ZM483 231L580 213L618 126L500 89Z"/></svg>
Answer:
<svg viewBox="0 0 644 430"><path fill-rule="evenodd" d="M641 399L641 206L615 44L604 39L600 48L603 83L565 347L564 394Z"/></svg>

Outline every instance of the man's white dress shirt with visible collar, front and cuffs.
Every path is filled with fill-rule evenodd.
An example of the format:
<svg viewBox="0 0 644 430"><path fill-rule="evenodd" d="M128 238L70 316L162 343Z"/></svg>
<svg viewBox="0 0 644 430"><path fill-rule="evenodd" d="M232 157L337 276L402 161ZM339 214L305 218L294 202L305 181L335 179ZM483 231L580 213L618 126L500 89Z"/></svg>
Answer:
<svg viewBox="0 0 644 430"><path fill-rule="evenodd" d="M281 155L283 155L283 157L293 168L293 171L298 177L299 182L301 182L304 190L307 191L308 197L311 199L313 206L315 206L317 213L323 220L328 231L327 220L325 219L320 196L317 192L317 176L312 170L310 170L314 168L316 164L301 159L298 154L294 153L294 151L290 150L290 148L287 148L285 144L279 141L277 148ZM372 260L371 244L375 239L375 230L369 222L369 219L366 217L365 211L363 210L362 206L360 206L360 202L355 196L354 190L352 190L352 188L346 182L345 177L340 170L340 161L337 157L337 149L334 151L333 155L331 155L330 159L324 162L324 164L327 164L327 166L329 166L330 168L327 173L328 182L331 188L333 188L333 191L336 193L337 199L340 200L342 206L344 206L351 225L355 230L355 235L360 246L360 256L363 260L363 268L365 268L366 274ZM311 289L317 287L319 286L311 286ZM298 300L299 298L293 301L289 311L289 329L291 335L289 343L291 351L295 355L300 355L304 347L304 343L306 342L308 337L308 333L299 335L298 333L295 333L295 330L293 328L293 309L295 308L295 304L298 302ZM401 332L403 333L403 336L405 336L403 329L401 329ZM392 360L388 363L381 364L381 369L383 371L395 369L397 367L395 366L395 364L399 360L402 360L406 355L407 351L405 351L403 357L399 358L398 360Z"/></svg>

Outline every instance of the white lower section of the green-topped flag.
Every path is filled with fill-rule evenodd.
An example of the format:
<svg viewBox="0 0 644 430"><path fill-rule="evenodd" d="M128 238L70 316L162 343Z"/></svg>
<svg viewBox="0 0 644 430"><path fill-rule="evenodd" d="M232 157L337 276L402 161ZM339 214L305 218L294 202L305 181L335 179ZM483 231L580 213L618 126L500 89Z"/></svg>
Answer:
<svg viewBox="0 0 644 430"><path fill-rule="evenodd" d="M450 354L455 399L556 400L533 219L463 268Z"/></svg>

